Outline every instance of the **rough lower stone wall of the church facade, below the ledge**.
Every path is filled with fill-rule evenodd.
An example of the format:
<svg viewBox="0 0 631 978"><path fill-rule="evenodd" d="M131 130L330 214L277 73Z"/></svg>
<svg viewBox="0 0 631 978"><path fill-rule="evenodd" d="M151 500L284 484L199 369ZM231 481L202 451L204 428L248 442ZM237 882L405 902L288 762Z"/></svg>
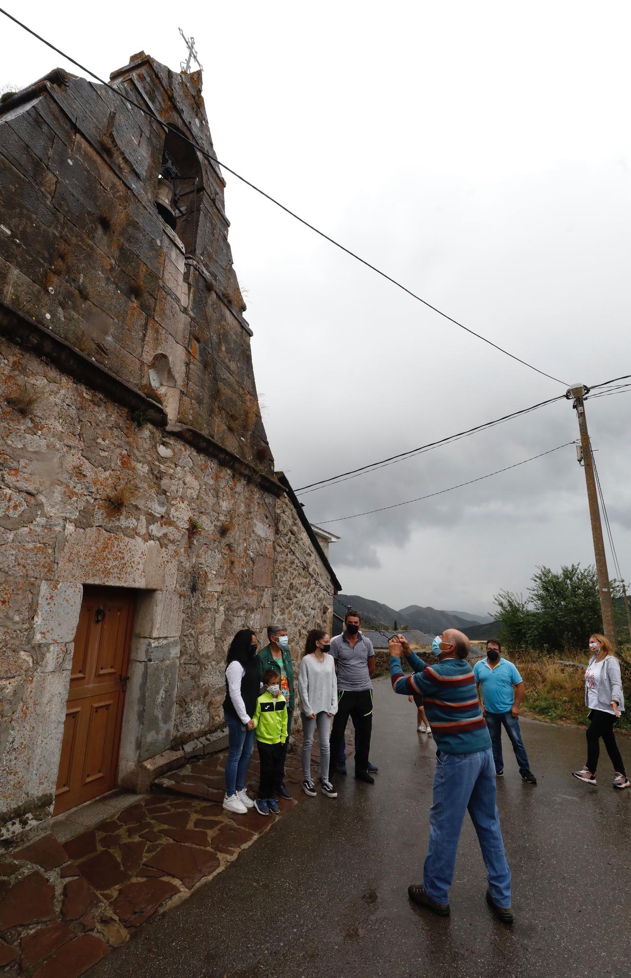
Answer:
<svg viewBox="0 0 631 978"><path fill-rule="evenodd" d="M223 727L231 637L272 616L275 499L8 341L0 386L0 813L12 821L50 813L83 585L138 593L119 779Z"/></svg>

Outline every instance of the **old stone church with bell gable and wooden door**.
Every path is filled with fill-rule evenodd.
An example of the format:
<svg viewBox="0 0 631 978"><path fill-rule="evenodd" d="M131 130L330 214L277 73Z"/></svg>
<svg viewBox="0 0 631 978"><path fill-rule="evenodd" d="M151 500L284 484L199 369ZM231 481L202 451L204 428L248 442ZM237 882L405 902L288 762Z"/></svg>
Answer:
<svg viewBox="0 0 631 978"><path fill-rule="evenodd" d="M298 658L340 590L274 472L201 73L110 81L0 104L5 839L212 750L232 635Z"/></svg>

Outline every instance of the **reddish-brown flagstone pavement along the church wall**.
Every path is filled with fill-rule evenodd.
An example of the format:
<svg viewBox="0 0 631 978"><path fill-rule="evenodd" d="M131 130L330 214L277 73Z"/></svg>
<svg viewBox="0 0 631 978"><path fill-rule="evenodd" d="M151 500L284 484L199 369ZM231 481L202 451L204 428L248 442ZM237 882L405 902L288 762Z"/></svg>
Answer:
<svg viewBox="0 0 631 978"><path fill-rule="evenodd" d="M74 978L153 913L186 900L306 797L299 740L296 747L285 766L293 798L279 799L280 816L224 811L224 751L160 778L150 794L63 844L53 828L19 850L0 849L0 974ZM318 775L316 750L313 768ZM253 797L258 778L255 751Z"/></svg>

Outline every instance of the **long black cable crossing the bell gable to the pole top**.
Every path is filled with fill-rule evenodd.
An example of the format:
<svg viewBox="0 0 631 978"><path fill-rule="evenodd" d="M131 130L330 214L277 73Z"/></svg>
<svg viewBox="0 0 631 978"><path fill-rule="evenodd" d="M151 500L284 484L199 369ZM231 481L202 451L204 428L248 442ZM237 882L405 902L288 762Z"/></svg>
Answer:
<svg viewBox="0 0 631 978"><path fill-rule="evenodd" d="M0 14L4 14L4 16L7 17L10 21L17 23L18 26L20 26L27 33L31 34L32 37L37 38L37 40L41 41L42 44L45 44L47 47L51 48L51 50L61 55L62 58L65 58L65 60L70 62L71 65L74 65L75 67L80 68L82 71L85 71L86 74L89 74L96 81L100 82L100 84L105 85L107 88L109 88L112 92L118 95L125 102L128 102L135 109L141 112L145 112L148 116L153 118L161 126L165 125L164 121L154 111L148 110L145 106L139 106L136 102L133 101L133 99L128 98L128 96L124 95L121 91L119 91L118 88L116 88L113 85L110 85L109 82L105 81L103 78L100 78L99 75L95 74L94 71L91 71L90 68L81 65L79 62L75 61L74 58L70 58L70 56L66 55L65 52L63 52L60 48L56 47L50 41L47 41L45 37L42 37L40 34L32 30L30 27L26 26L26 24L19 21L18 18L13 17L12 14L9 14L6 10L3 10L2 8L0 8ZM475 330L471 330L468 326L464 326L464 324L458 322L457 319L453 319L452 316L448 316L446 313L442 312L442 310L439 309L437 306L432 305L431 302L428 302L427 299L421 298L420 295L417 295L416 292L413 292L411 289L408 289L406 286L402 285L402 283L400 283L397 279L392 278L392 276L388 275L386 272L383 272L380 268L377 268L376 265L372 265L369 261L366 261L365 258L361 258L355 251L352 251L351 248L346 247L346 245L344 244L340 244L340 242L336 241L334 238L331 238L323 231L320 231L319 228L316 228L314 224L311 224L304 217L300 217L300 215L297 214L295 211L291 210L289 207L286 207L284 203L280 203L279 200L275 200L275 198L273 198L270 194L266 193L266 191L262 190L260 187L257 187L256 184L253 184L250 180L247 180L245 177L241 176L240 173L236 172L236 170L231 169L231 167L228 166L227 163L221 162L221 160L217 159L216 156L211 156L211 154L208 153L207 150L204 150L203 147L199 146L197 143L190 140L183 133L178 132L175 129L169 131L175 132L182 140L188 143L189 146L191 146L197 153L201 154L201 156L205 156L213 164L223 166L225 170L228 170L228 172L231 173L232 176L236 177L237 180L240 180L241 183L246 184L246 186L256 191L257 194L260 194L262 197L266 198L266 200L270 200L270 202L275 204L276 207L279 207L281 210L284 210L286 214L289 214L289 216L295 218L295 220L300 221L301 224L304 224L305 227L309 228L311 231L314 231L315 234L319 235L320 238L323 238L325 241L329 242L330 244L334 244L335 247L340 248L341 251L345 251L346 254L350 255L352 258L355 258L356 261L360 262L362 265L365 265L366 268L369 268L371 271L376 272L377 275L380 275L382 278L392 283L392 285L397 286L398 289L407 292L407 294L411 295L411 297L413 299L416 299L417 302L421 302L428 309L432 309L433 312L438 313L439 316L442 316L442 318L446 319L449 323L453 323L454 326L457 326L459 327L459 329L464 330L465 333L470 333L472 336L476 336L478 339L482 339L484 343L487 343L489 346L492 346L500 353L504 353L507 357L510 357L512 360L516 360L518 363L521 363L524 367L529 368L529 370L533 370L536 374L540 374L541 377L546 377L549 380L554 380L556 383L563 383L564 386L568 386L564 380L561 380L558 377L553 377L551 374L546 374L545 371L539 370L538 367L534 367L532 364L527 363L526 360L523 360L521 357L516 356L516 354L510 353L508 350L504 349L503 346L499 346L497 343L494 343L491 339L487 339L486 336L482 335L482 333L476 333Z"/></svg>

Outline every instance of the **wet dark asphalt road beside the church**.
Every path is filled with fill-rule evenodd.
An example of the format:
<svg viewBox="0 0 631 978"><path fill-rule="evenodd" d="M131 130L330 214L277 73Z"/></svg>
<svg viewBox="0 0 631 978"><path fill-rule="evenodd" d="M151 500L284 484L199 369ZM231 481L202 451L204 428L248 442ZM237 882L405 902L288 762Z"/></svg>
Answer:
<svg viewBox="0 0 631 978"><path fill-rule="evenodd" d="M337 778L337 800L318 795L297 806L91 978L629 975L631 789L611 787L605 751L598 788L570 777L585 761L582 731L522 721L536 787L523 783L506 742L497 793L513 872L512 928L486 908L469 821L451 917L408 903L407 884L422 881L435 767L415 713L388 680L378 681L375 785ZM628 772L631 740L618 742Z"/></svg>

